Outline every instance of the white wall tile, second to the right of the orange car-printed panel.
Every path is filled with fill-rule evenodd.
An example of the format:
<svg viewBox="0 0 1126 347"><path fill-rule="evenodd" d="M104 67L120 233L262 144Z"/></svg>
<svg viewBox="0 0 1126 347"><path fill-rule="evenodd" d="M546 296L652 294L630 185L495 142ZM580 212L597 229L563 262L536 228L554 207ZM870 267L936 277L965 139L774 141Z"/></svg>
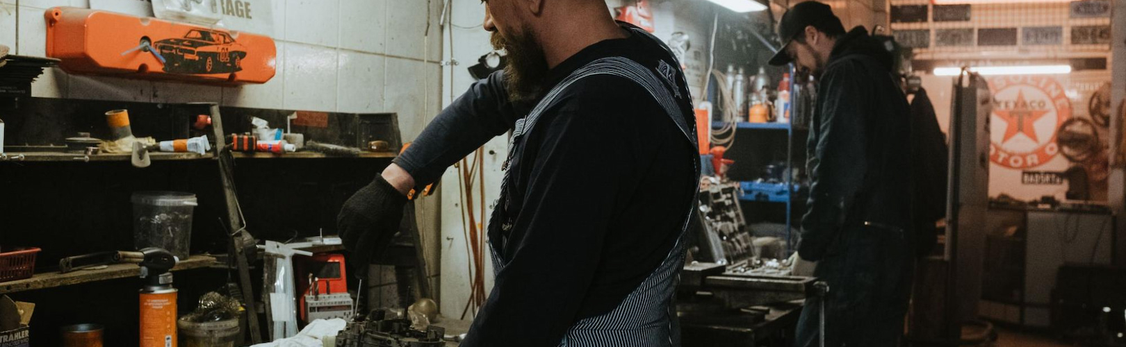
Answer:
<svg viewBox="0 0 1126 347"><path fill-rule="evenodd" d="M385 57L358 52L340 51L337 66L337 110L364 112L383 110L383 81Z"/></svg>

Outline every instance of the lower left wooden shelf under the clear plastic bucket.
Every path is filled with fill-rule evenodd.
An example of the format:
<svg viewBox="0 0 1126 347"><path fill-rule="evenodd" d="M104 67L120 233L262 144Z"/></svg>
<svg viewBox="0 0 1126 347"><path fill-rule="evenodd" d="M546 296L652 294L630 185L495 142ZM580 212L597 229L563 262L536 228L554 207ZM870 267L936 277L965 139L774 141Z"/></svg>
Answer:
<svg viewBox="0 0 1126 347"><path fill-rule="evenodd" d="M187 261L176 264L172 271L193 270L207 267L215 263L215 258L208 255L194 255ZM107 281L125 277L137 277L141 275L141 267L137 264L114 264L99 270L79 270L71 273L50 272L35 274L30 278L16 280L11 282L0 282L0 294L33 291L79 283ZM140 284L138 284L140 285Z"/></svg>

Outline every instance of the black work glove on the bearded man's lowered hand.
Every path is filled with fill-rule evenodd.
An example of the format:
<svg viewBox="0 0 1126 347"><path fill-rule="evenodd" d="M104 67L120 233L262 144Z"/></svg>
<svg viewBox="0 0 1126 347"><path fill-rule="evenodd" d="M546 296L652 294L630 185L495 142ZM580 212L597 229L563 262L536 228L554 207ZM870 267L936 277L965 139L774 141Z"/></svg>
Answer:
<svg viewBox="0 0 1126 347"><path fill-rule="evenodd" d="M383 176L376 176L345 201L337 217L337 228L345 249L351 254L349 263L354 264L355 277L366 278L373 255L383 254L391 246L406 201L406 197Z"/></svg>

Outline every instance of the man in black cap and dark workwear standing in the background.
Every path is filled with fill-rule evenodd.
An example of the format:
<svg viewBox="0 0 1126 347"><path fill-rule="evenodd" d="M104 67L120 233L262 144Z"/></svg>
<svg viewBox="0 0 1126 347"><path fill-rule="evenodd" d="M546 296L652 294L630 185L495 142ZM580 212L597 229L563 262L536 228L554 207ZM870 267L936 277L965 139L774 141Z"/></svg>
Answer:
<svg viewBox="0 0 1126 347"><path fill-rule="evenodd" d="M817 79L796 263L817 262L813 274L829 284L825 346L899 346L914 236L909 109L892 55L815 1L786 11L778 35L770 64ZM797 346L817 345L821 300L806 301Z"/></svg>

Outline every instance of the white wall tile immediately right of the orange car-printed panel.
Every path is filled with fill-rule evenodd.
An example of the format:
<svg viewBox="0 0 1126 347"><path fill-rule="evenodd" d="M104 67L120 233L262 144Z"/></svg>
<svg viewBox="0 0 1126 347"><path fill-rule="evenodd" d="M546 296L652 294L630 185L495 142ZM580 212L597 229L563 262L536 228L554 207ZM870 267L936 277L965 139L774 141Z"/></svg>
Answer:
<svg viewBox="0 0 1126 347"><path fill-rule="evenodd" d="M285 56L282 107L297 110L336 110L337 49L289 43L286 45Z"/></svg>

